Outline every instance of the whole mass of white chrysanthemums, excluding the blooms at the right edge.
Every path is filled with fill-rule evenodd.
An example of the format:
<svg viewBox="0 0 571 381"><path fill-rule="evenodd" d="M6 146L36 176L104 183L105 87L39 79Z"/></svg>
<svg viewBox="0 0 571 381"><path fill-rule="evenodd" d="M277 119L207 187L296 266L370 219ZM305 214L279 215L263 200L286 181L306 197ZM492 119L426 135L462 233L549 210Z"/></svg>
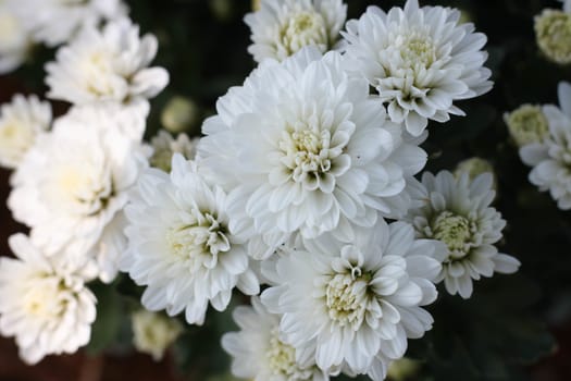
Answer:
<svg viewBox="0 0 571 381"><path fill-rule="evenodd" d="M163 131L148 149L148 99L169 81L148 67L156 37L140 37L120 1L22 3L41 13L35 38L69 41L46 82L48 97L73 103L53 123L36 98L0 115L9 207L30 228L14 242L40 257L28 265L15 247L24 265L0 263L0 296L12 295L0 297L0 331L30 361L87 343L84 283L120 270L144 286L145 308L189 324L235 290L251 295L235 312L241 331L222 341L238 377L378 381L432 328L435 283L466 298L472 279L517 270L494 246L505 221L492 175L414 179L429 120L463 114L455 101L492 88L486 37L458 11L408 0L345 24L340 0L262 0L245 17L259 66L218 100L203 138ZM48 280L58 286L37 300L29 290ZM156 317L136 315L134 328L159 358L176 329L145 336Z"/></svg>

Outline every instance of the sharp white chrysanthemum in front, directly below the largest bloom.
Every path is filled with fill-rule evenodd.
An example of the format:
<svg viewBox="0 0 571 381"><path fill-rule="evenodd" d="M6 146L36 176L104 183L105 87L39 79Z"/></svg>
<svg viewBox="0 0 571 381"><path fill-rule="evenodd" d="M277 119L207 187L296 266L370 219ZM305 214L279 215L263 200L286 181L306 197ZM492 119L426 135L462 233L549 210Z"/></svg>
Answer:
<svg viewBox="0 0 571 381"><path fill-rule="evenodd" d="M421 337L432 317L420 306L435 300L432 280L440 265L434 241L414 239L412 226L387 225L356 231L342 242L326 235L307 250L282 256L273 286L261 296L282 314L285 343L303 364L313 358L325 372L339 367L349 376L383 380L390 360L402 357L407 337Z"/></svg>

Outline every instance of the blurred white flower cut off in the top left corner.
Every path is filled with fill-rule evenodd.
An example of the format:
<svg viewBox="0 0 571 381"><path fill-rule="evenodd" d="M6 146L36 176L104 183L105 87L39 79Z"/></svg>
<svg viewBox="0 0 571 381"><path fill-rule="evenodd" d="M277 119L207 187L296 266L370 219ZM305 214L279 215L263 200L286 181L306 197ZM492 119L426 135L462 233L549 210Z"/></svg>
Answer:
<svg viewBox="0 0 571 381"><path fill-rule="evenodd" d="M0 0L0 74L20 66L32 46L24 22L14 11L16 1Z"/></svg>

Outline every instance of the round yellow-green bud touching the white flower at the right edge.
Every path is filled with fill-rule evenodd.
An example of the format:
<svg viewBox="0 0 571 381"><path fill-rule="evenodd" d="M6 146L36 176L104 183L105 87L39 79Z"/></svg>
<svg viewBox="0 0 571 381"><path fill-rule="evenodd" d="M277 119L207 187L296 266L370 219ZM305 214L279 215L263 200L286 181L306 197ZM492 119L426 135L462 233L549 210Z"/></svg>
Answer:
<svg viewBox="0 0 571 381"><path fill-rule="evenodd" d="M504 114L511 138L518 147L542 143L549 133L547 118L539 106L522 105Z"/></svg>

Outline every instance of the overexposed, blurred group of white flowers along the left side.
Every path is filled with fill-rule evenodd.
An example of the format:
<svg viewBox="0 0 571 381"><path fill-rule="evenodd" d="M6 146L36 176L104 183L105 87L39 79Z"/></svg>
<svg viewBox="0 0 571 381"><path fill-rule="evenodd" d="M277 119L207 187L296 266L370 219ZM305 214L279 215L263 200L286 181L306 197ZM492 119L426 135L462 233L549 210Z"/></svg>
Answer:
<svg viewBox="0 0 571 381"><path fill-rule="evenodd" d="M0 164L14 170L8 205L29 228L29 238L11 238L18 259L0 261L0 333L14 335L22 357L37 362L90 340L96 298L86 283L117 274L127 246L124 209L149 165L147 99L169 76L147 67L153 36L139 37L125 17L101 25L124 14L119 0L0 7L12 7L36 40L70 41L47 65L48 96L72 102L67 112L52 121L48 102L22 95L0 111ZM9 15L0 14L0 26L12 33L16 26L2 19ZM0 40L1 60L3 52Z"/></svg>

